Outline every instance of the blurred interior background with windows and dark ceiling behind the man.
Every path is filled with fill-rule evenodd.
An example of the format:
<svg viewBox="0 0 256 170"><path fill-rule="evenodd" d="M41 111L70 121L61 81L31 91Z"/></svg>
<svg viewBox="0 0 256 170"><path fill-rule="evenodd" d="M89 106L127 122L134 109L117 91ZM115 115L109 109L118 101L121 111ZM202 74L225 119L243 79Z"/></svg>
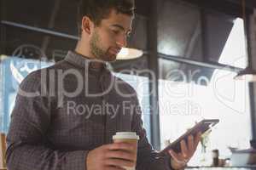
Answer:
<svg viewBox="0 0 256 170"><path fill-rule="evenodd" d="M244 4L244 5L243 5ZM0 132L7 133L20 82L54 65L78 41L77 2L1 0ZM137 90L144 127L156 150L195 122L220 120L189 165L229 159L256 139L255 85L234 77L256 66L253 0L137 0L128 48L143 55L109 64ZM153 79L148 71L153 71Z"/></svg>

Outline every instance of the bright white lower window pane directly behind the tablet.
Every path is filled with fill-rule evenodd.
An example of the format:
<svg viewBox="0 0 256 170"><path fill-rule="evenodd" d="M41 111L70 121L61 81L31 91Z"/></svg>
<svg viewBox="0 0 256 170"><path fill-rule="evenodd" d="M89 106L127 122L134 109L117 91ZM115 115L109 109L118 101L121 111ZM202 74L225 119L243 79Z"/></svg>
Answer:
<svg viewBox="0 0 256 170"><path fill-rule="evenodd" d="M218 118L220 122L209 135L207 156L201 157L202 148L190 163L200 165L205 160L211 161L211 150L218 149L220 156L230 156L228 147L247 149L251 139L250 108L246 82L233 80L235 73L215 70L207 86L195 82L159 81L160 137L161 148L165 141L177 139L195 122L203 118ZM241 128L242 127L242 128ZM236 132L236 135L234 135ZM202 161L202 162L200 162Z"/></svg>

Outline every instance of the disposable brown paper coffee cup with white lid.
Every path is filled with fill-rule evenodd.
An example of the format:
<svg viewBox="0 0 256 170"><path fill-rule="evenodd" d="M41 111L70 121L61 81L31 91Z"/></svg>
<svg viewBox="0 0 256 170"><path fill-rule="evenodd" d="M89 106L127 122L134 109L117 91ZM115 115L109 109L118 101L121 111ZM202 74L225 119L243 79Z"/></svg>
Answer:
<svg viewBox="0 0 256 170"><path fill-rule="evenodd" d="M131 150L131 153L133 153L135 160L137 160L138 140L139 140L139 136L137 135L137 133L133 133L133 132L119 132L113 135L113 143L124 142L124 143L133 144L135 146L134 148L136 148L136 150ZM135 161L133 167L123 167L123 168L125 168L125 170L136 170L136 162L137 161Z"/></svg>

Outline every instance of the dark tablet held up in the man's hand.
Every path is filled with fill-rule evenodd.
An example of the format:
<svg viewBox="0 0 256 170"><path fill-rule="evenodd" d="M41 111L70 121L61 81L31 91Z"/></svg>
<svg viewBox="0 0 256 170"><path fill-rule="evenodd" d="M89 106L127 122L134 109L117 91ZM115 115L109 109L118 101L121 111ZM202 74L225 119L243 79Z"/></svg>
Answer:
<svg viewBox="0 0 256 170"><path fill-rule="evenodd" d="M218 119L204 119L201 122L198 122L195 124L194 127L190 128L186 133L184 133L182 136L180 136L177 140L172 142L172 144L169 144L166 146L164 150L160 151L160 154L166 154L168 150L174 150L175 152L180 152L180 142L184 139L187 142L187 139L190 134L193 136L196 135L196 133L201 132L201 134L208 132L211 130L213 126L215 126L219 122Z"/></svg>

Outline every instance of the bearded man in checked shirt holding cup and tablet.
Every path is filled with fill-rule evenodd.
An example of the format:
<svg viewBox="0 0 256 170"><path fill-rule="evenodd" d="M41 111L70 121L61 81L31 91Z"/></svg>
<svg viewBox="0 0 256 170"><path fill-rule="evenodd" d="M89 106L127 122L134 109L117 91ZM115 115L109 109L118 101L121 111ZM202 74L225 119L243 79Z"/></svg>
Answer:
<svg viewBox="0 0 256 170"><path fill-rule="evenodd" d="M132 0L80 4L80 40L55 65L20 84L7 137L10 170L119 170L131 167L131 144L113 144L116 132L136 132L138 170L181 169L200 134L170 156L154 151L143 129L133 88L108 71L131 33ZM108 110L106 110L108 108Z"/></svg>

